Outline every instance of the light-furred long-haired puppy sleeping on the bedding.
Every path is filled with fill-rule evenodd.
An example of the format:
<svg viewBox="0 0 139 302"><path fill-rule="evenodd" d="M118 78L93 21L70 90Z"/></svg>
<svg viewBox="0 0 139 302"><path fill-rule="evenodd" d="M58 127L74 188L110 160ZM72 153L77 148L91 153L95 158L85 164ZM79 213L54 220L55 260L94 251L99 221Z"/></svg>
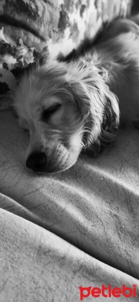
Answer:
<svg viewBox="0 0 139 302"><path fill-rule="evenodd" d="M81 150L109 146L120 123L137 123L139 16L113 21L77 59L48 59L25 72L14 94L21 127L30 133L26 166L53 173Z"/></svg>

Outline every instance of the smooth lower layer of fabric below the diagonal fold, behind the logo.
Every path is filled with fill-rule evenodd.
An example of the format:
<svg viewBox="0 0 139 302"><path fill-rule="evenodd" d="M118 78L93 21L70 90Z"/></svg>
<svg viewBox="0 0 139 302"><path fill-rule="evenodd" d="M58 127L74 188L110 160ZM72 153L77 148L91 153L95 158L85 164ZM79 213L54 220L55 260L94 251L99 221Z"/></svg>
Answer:
<svg viewBox="0 0 139 302"><path fill-rule="evenodd" d="M8 204L10 198L6 200ZM40 226L0 209L0 228L1 302L77 302L79 286L101 288L102 284L120 288L122 284L131 288L136 284L136 298L122 296L118 301L138 301L136 278L96 260ZM83 299L93 300L91 295ZM105 300L97 298L98 302ZM117 298L109 300L116 302Z"/></svg>

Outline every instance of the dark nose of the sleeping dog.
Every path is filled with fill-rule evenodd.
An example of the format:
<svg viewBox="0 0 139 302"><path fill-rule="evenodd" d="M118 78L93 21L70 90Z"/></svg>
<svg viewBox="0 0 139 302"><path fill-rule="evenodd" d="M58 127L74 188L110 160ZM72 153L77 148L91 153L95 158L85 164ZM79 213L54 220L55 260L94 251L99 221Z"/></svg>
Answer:
<svg viewBox="0 0 139 302"><path fill-rule="evenodd" d="M44 153L34 152L27 159L26 166L35 172L43 172L46 163L46 155Z"/></svg>

